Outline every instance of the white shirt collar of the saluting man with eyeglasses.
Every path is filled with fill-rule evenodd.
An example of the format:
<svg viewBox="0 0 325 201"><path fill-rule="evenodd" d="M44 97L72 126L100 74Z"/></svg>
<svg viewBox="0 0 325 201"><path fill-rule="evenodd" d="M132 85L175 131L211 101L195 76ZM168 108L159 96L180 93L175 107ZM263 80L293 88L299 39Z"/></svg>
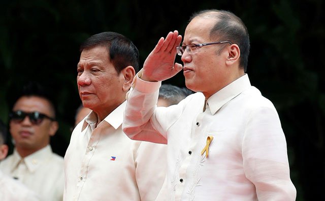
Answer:
<svg viewBox="0 0 325 201"><path fill-rule="evenodd" d="M207 104L211 114L214 115L224 104L241 94L244 90L251 87L247 74L236 79L231 84L225 86L211 97L208 98Z"/></svg>

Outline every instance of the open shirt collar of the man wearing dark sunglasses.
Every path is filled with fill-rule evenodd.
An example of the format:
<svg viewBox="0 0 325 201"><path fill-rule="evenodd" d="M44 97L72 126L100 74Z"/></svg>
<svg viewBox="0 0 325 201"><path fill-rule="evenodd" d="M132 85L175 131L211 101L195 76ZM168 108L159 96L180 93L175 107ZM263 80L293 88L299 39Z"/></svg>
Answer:
<svg viewBox="0 0 325 201"><path fill-rule="evenodd" d="M12 170L17 168L19 162L23 159L24 163L26 164L26 167L29 172L35 172L37 168L49 158L49 156L52 154L52 149L50 145L47 145L46 147L36 151L35 153L32 153L30 155L27 155L26 157L22 158L17 150L14 151L13 154L13 164L12 164Z"/></svg>

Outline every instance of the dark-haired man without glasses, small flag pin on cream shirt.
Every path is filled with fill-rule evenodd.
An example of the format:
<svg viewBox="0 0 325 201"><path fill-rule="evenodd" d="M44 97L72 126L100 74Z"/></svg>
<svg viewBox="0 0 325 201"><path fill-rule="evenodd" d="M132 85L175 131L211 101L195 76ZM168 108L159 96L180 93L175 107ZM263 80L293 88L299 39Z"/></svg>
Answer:
<svg viewBox="0 0 325 201"><path fill-rule="evenodd" d="M64 156L64 200L155 200L167 146L131 140L121 126L138 50L114 32L95 34L80 49L78 90L92 112L74 129Z"/></svg>

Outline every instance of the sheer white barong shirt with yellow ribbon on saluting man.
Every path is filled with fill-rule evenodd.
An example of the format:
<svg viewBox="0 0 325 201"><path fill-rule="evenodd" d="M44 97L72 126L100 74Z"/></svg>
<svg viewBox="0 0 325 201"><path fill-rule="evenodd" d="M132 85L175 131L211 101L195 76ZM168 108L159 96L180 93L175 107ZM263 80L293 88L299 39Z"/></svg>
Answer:
<svg viewBox="0 0 325 201"><path fill-rule="evenodd" d="M166 200L296 199L279 116L247 74L207 100L195 93L167 108L156 107L160 85L136 76L122 128L168 142Z"/></svg>

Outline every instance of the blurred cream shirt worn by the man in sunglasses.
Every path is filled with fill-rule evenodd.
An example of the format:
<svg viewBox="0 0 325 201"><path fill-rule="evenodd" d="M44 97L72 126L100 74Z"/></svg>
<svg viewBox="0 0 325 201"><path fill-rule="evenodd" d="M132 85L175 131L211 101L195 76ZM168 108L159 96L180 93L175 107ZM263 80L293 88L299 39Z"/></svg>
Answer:
<svg viewBox="0 0 325 201"><path fill-rule="evenodd" d="M14 150L0 163L0 170L35 191L41 200L62 200L63 158L53 153L50 145L24 158Z"/></svg>

